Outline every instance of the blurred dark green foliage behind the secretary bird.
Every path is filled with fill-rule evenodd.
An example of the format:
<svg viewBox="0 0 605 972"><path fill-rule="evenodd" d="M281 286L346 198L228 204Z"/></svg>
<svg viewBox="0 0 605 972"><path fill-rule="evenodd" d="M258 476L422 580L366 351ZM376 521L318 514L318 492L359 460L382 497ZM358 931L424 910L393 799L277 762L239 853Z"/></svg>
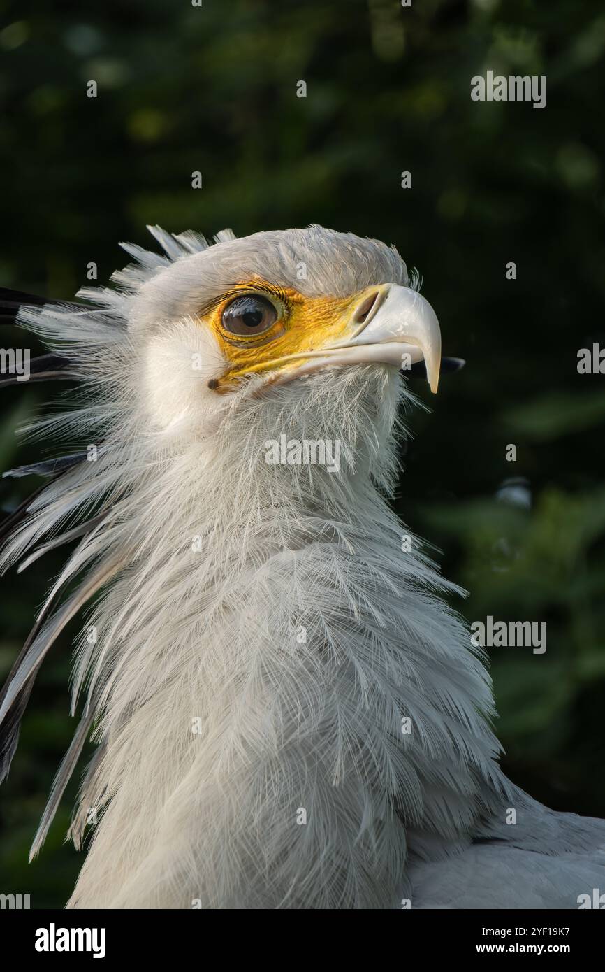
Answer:
<svg viewBox="0 0 605 972"><path fill-rule="evenodd" d="M69 297L91 260L104 283L126 261L119 240L151 244L148 223L209 235L320 223L392 242L419 267L445 352L468 364L435 399L419 385L432 414L412 418L397 508L470 591L457 606L469 620L548 621L545 655L490 651L505 766L555 809L605 816L605 376L576 367L579 348L605 346L602 4L55 0L0 11L0 284ZM546 74L547 107L471 101L470 79L487 68ZM31 346L0 330L2 347ZM2 395L0 467L56 454L15 435L50 390ZM530 508L497 497L511 476L526 479ZM3 508L35 485L5 480ZM60 563L4 579L2 676ZM74 631L38 680L0 794L0 891L29 892L32 907L61 907L80 866L62 845L74 787L26 863L73 730Z"/></svg>

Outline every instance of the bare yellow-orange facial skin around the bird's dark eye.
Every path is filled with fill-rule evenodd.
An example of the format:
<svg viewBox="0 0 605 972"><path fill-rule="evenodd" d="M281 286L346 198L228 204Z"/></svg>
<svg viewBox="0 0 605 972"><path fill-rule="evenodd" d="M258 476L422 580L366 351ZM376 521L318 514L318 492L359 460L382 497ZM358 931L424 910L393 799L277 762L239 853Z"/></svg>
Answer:
<svg viewBox="0 0 605 972"><path fill-rule="evenodd" d="M261 334L232 334L221 324L225 307L235 296L257 294L271 300L278 317ZM349 297L307 297L289 288L276 287L264 280L243 281L212 307L198 315L200 324L215 334L229 366L210 385L218 392L233 388L246 374L279 368L294 368L304 361L307 351L319 351L346 338L354 309L363 294ZM296 358L291 358L296 355ZM300 357L298 357L300 356Z"/></svg>

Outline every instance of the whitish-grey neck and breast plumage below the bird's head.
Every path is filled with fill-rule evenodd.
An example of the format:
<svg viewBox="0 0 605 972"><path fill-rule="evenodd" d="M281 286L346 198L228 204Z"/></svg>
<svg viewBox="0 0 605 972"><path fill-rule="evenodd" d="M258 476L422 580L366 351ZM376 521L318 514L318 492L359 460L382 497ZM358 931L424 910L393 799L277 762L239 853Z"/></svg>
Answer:
<svg viewBox="0 0 605 972"><path fill-rule="evenodd" d="M77 666L102 742L72 907L389 907L407 855L464 843L493 799L487 674L452 586L401 549L398 379L368 375L148 437ZM268 465L281 434L340 439L340 471Z"/></svg>

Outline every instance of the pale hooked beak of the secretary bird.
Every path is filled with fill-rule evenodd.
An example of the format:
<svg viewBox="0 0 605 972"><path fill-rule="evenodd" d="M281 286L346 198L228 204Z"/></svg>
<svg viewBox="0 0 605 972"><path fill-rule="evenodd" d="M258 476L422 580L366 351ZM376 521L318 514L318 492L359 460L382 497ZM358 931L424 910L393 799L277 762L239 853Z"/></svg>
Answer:
<svg viewBox="0 0 605 972"><path fill-rule="evenodd" d="M370 363L395 364L405 371L423 361L430 390L437 391L441 330L433 308L417 291L397 284L368 288L359 295L345 334L350 336L321 350L292 355L290 360L306 359L295 373L315 371L326 364Z"/></svg>

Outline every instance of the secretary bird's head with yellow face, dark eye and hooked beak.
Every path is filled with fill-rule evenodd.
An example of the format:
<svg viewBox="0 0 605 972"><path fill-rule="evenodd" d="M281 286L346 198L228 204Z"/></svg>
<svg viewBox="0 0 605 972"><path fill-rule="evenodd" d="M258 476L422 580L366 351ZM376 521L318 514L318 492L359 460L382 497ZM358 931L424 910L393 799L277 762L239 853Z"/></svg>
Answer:
<svg viewBox="0 0 605 972"><path fill-rule="evenodd" d="M224 230L209 247L150 228L165 260L142 283L137 269L116 276L132 294L129 330L145 348L150 418L160 427L267 400L310 376L315 391L333 388L360 366L371 380L377 365L395 375L423 362L437 391L437 318L384 243L310 226L240 239Z"/></svg>

